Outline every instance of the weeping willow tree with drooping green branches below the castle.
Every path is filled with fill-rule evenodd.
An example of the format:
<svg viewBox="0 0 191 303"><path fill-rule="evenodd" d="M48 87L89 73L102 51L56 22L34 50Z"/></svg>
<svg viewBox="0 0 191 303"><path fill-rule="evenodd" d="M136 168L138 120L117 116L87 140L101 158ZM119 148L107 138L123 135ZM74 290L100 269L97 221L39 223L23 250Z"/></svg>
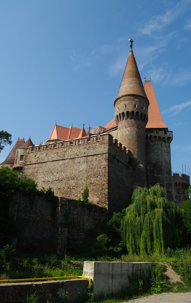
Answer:
<svg viewBox="0 0 191 303"><path fill-rule="evenodd" d="M133 191L121 221L122 239L130 254L160 254L176 245L175 206L159 184Z"/></svg>

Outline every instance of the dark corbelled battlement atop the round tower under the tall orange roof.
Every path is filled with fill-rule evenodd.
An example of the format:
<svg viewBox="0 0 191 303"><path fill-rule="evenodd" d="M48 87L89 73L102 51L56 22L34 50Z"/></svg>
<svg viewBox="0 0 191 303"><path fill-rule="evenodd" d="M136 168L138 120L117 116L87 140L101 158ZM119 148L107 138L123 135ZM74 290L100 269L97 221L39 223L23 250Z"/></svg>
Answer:
<svg viewBox="0 0 191 303"><path fill-rule="evenodd" d="M173 132L166 130L146 129L146 140L170 143L173 140Z"/></svg>

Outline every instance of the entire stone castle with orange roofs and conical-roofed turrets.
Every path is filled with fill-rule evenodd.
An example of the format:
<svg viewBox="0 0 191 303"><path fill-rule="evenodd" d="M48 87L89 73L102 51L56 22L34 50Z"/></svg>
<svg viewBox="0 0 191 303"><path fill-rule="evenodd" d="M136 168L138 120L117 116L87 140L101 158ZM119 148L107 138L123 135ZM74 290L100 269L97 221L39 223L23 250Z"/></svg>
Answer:
<svg viewBox="0 0 191 303"><path fill-rule="evenodd" d="M171 175L173 132L163 122L151 80L144 86L132 50L114 102L115 118L104 127L84 129L55 125L47 142L18 139L1 167L21 170L38 188L77 200L89 188L89 201L119 210L137 186L159 183L177 206L189 176Z"/></svg>

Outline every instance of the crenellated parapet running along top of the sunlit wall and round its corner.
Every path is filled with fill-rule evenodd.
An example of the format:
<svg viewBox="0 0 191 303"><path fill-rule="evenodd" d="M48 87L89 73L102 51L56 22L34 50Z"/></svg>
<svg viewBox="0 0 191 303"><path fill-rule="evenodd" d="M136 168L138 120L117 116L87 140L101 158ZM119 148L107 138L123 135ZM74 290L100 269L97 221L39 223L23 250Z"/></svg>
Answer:
<svg viewBox="0 0 191 303"><path fill-rule="evenodd" d="M108 143L109 145L114 145L116 148L118 148L120 151L129 154L130 151L123 146L118 140L114 139L112 135L109 133L104 133L101 135L92 135L90 137L90 140L88 140L88 137L83 137L81 139L75 138L72 140L65 140L65 141L58 141L58 142L46 142L42 143L40 145L30 146L27 148L27 153L33 153L33 152L43 152L43 151L50 151L50 150L57 150L59 148L68 148L68 147L74 147L74 146L81 146L81 145L88 145L91 143Z"/></svg>

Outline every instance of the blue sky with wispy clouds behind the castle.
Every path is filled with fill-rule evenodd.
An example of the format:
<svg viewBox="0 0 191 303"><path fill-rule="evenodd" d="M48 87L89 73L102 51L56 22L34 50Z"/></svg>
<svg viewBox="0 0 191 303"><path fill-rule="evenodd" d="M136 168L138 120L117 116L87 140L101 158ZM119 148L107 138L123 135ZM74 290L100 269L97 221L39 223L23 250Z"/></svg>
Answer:
<svg viewBox="0 0 191 303"><path fill-rule="evenodd" d="M129 41L173 131L172 170L191 170L191 0L1 0L0 128L34 144L58 125L115 115ZM12 145L13 146L13 145ZM0 154L2 162L10 146Z"/></svg>

